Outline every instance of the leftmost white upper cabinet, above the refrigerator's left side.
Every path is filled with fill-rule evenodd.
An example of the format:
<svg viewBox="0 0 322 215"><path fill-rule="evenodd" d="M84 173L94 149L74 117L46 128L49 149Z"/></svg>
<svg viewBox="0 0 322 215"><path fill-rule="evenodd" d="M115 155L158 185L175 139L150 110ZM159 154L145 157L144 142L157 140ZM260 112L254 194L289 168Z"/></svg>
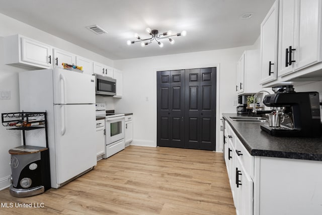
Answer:
<svg viewBox="0 0 322 215"><path fill-rule="evenodd" d="M51 68L52 48L21 35L5 37L5 64L30 68Z"/></svg>

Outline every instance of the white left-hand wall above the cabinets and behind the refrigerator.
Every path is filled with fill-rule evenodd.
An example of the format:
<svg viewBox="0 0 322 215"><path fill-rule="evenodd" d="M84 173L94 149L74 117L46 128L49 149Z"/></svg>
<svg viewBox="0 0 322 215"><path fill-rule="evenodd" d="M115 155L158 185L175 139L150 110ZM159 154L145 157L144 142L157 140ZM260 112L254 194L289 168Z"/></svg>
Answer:
<svg viewBox="0 0 322 215"><path fill-rule="evenodd" d="M9 90L11 92L10 100L0 100L0 113L18 112L20 110L18 73L27 69L5 65L3 61L4 54L6 54L3 51L3 37L14 34L21 34L62 50L75 53L109 66L114 66L113 60L111 59L0 14L0 90ZM113 103L108 103L114 108ZM19 146L21 144L20 139L19 131L8 131L4 126L0 126L0 190L9 185L8 177L11 175L11 169L9 166L10 155L8 151L11 148Z"/></svg>

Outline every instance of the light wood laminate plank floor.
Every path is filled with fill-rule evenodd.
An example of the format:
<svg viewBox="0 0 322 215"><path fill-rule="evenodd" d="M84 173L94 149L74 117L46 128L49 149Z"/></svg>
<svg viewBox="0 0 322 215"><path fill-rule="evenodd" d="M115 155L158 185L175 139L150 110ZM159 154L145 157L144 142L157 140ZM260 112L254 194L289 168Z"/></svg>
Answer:
<svg viewBox="0 0 322 215"><path fill-rule="evenodd" d="M129 146L59 189L25 198L0 191L0 214L235 214L222 156Z"/></svg>

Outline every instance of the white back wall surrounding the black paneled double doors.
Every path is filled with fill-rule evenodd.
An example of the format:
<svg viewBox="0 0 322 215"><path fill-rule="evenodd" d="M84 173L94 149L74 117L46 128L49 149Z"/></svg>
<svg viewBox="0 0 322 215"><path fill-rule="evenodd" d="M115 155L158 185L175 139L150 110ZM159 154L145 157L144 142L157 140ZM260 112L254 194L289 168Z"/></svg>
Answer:
<svg viewBox="0 0 322 215"><path fill-rule="evenodd" d="M141 47L137 47L141 48ZM235 113L236 62L244 50L253 46L134 58L114 61L123 70L123 99L115 102L118 112L133 112L133 145L156 146L156 71L219 65L219 118L221 113ZM219 119L218 119L219 120ZM217 124L218 125L218 124ZM216 129L219 131L219 129ZM218 136L217 132L217 136ZM217 141L216 150L222 149Z"/></svg>

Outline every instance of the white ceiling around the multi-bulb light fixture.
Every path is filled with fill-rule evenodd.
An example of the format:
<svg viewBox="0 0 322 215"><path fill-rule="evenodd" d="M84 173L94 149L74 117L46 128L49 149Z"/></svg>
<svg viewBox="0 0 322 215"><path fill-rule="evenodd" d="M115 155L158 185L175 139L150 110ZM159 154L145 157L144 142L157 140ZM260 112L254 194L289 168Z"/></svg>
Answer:
<svg viewBox="0 0 322 215"><path fill-rule="evenodd" d="M116 60L252 45L274 1L0 0L0 13ZM239 18L249 12L252 18ZM90 25L108 34L94 34L85 28ZM187 36L174 37L174 45L163 41L163 48L155 42L126 44L134 33L148 38L147 27L160 33L186 30Z"/></svg>

